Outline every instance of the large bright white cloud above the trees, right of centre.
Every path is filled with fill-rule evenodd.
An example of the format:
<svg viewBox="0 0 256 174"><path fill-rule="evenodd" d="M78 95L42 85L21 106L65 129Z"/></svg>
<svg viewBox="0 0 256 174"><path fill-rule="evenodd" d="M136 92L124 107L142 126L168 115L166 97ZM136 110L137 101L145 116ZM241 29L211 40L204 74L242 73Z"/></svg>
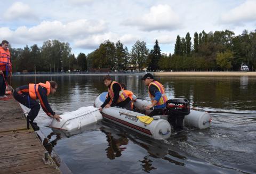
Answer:
<svg viewBox="0 0 256 174"><path fill-rule="evenodd" d="M144 31L174 30L181 27L180 19L169 5L157 5L140 18L127 19L122 22L125 26L138 26Z"/></svg>

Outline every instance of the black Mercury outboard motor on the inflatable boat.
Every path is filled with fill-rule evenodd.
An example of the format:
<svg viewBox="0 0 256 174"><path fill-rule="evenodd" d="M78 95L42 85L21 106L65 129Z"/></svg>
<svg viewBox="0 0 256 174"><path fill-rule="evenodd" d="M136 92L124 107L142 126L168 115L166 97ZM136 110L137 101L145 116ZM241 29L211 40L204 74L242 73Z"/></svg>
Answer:
<svg viewBox="0 0 256 174"><path fill-rule="evenodd" d="M174 131L180 131L183 129L185 115L190 113L189 101L186 98L172 98L166 102L166 112Z"/></svg>

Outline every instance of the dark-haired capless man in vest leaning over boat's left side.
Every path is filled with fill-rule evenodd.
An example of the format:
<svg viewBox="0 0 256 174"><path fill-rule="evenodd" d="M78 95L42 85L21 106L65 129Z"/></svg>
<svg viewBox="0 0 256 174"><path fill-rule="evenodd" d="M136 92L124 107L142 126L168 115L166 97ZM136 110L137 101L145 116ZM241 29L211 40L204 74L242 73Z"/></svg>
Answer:
<svg viewBox="0 0 256 174"><path fill-rule="evenodd" d="M125 109L131 110L131 99L130 97L122 90L122 87L118 82L112 81L109 75L103 78L105 86L108 87L108 97L105 102L99 107L99 110L102 111L103 107L123 107ZM112 101L111 104L109 103Z"/></svg>

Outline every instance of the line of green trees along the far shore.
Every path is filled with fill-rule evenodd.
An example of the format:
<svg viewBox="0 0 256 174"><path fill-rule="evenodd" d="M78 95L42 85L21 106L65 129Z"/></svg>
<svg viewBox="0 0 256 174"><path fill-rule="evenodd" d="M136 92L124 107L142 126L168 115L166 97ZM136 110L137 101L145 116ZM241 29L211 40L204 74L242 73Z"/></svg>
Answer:
<svg viewBox="0 0 256 174"><path fill-rule="evenodd" d="M93 52L77 57L71 53L69 43L47 40L42 47L10 48L13 72L90 71L106 68L110 71L126 71L138 67L149 71L238 71L242 63L250 70L256 69L256 30L244 30L235 36L233 31L215 31L199 34L192 38L177 36L173 55L161 53L158 40L152 49L138 40L128 50L119 40L105 40Z"/></svg>

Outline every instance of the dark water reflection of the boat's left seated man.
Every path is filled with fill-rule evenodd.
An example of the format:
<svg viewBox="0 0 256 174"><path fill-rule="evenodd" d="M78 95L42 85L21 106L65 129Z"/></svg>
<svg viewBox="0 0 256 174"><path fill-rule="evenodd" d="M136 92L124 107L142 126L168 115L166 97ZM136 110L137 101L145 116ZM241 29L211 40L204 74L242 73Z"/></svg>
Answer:
<svg viewBox="0 0 256 174"><path fill-rule="evenodd" d="M115 158L120 157L122 155L122 151L126 149L126 147L122 147L122 145L127 145L129 140L123 135L118 135L119 138L116 139L111 135L111 132L107 132L103 128L101 128L100 130L105 133L107 137L107 158L109 158L110 160L114 160Z"/></svg>

